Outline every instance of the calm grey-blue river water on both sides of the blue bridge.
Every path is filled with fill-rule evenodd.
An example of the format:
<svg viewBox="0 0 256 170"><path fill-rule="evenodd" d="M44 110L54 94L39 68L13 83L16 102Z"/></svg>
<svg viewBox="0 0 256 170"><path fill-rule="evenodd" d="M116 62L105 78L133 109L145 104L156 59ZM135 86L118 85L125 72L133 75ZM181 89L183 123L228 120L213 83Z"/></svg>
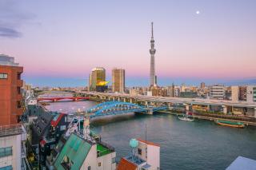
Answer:
<svg viewBox="0 0 256 170"><path fill-rule="evenodd" d="M74 112L94 101L50 103L47 109ZM256 128L229 128L212 121L179 121L170 114L127 114L92 121L91 130L114 146L118 160L130 154L129 140L142 138L161 145L162 169L225 169L237 156L256 160ZM146 129L146 130L145 130Z"/></svg>

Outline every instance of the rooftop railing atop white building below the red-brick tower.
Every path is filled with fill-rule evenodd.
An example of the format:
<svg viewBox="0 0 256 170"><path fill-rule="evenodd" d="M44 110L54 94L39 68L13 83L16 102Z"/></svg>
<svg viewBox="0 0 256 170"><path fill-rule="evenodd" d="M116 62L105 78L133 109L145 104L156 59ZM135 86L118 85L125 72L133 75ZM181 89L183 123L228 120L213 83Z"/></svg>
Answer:
<svg viewBox="0 0 256 170"><path fill-rule="evenodd" d="M22 134L22 124L0 126L0 137Z"/></svg>

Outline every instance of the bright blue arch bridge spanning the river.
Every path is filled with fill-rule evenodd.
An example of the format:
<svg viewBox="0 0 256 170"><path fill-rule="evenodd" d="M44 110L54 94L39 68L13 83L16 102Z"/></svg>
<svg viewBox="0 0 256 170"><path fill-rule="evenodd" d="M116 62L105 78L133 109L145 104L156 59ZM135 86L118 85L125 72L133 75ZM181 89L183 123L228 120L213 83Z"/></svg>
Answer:
<svg viewBox="0 0 256 170"><path fill-rule="evenodd" d="M86 113L90 114L90 118L94 118L132 112L153 114L156 111L166 109L168 109L167 106L142 106L122 101L106 101L88 109Z"/></svg>

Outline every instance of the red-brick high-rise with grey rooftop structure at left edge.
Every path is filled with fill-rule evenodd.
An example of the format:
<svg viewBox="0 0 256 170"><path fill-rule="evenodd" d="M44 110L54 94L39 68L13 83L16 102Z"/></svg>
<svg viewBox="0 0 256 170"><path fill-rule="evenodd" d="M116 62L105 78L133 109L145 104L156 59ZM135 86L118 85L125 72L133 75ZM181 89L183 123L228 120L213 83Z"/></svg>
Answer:
<svg viewBox="0 0 256 170"><path fill-rule="evenodd" d="M23 67L14 62L14 57L0 55L0 125L13 125L22 116Z"/></svg>

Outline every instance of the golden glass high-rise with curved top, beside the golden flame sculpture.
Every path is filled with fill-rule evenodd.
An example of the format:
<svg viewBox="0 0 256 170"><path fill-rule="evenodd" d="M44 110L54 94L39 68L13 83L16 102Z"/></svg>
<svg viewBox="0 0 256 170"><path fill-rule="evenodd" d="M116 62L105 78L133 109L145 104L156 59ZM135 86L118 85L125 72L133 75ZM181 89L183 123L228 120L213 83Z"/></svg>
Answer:
<svg viewBox="0 0 256 170"><path fill-rule="evenodd" d="M89 78L90 91L96 91L97 85L103 84L104 81L106 81L106 70L102 67L92 69Z"/></svg>

